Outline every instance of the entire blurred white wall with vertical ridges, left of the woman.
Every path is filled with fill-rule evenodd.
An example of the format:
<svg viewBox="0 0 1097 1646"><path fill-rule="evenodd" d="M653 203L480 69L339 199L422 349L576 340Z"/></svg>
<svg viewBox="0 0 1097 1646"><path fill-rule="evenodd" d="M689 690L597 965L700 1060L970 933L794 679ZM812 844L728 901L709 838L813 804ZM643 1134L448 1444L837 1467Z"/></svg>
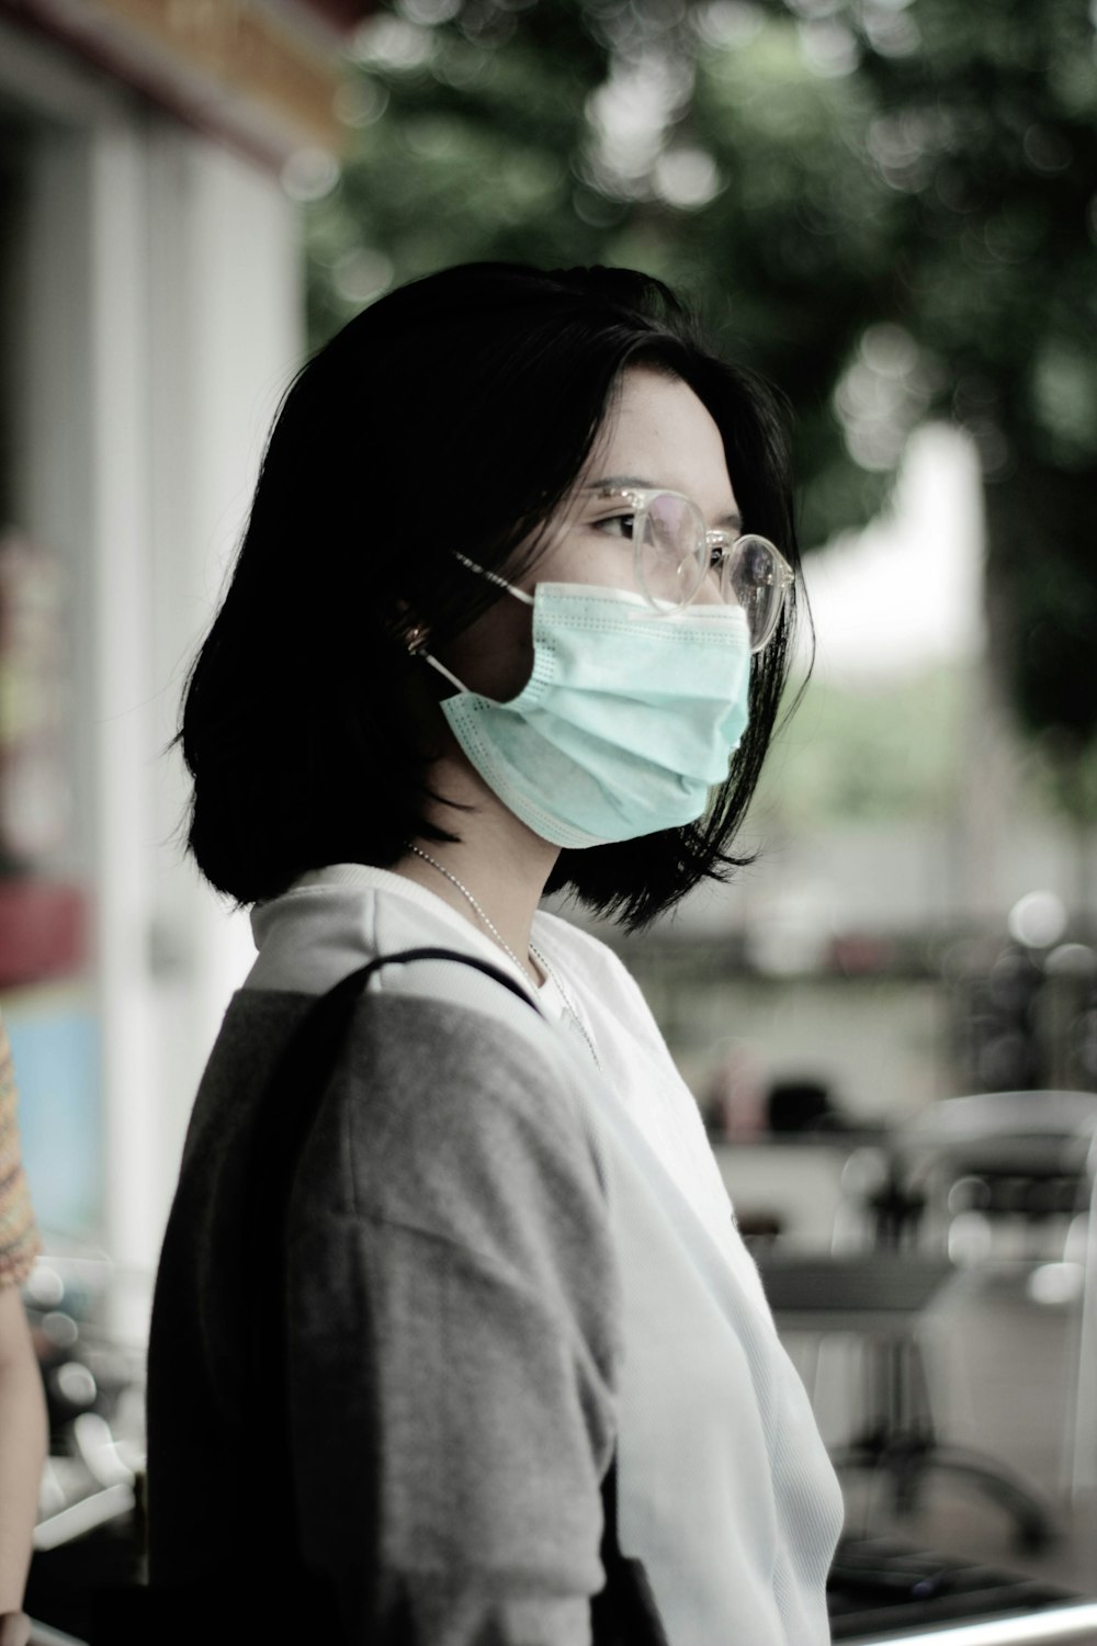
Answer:
<svg viewBox="0 0 1097 1646"><path fill-rule="evenodd" d="M8 43L13 53L8 53ZM184 863L179 690L301 360L276 178L0 25L33 122L16 362L21 523L66 561L105 1093L104 1243L151 1267L250 933ZM16 61L18 58L18 61ZM59 66L61 64L61 66Z"/></svg>

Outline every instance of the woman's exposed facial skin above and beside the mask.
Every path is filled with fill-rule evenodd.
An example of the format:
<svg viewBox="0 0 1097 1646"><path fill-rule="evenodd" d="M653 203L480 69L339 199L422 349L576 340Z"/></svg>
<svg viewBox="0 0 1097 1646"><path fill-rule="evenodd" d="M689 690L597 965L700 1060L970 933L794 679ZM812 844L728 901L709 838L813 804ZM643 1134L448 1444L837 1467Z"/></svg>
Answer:
<svg viewBox="0 0 1097 1646"><path fill-rule="evenodd" d="M590 459L544 533L544 548L515 588L589 583L635 589L628 507L599 495L615 486L683 492L709 530L737 535L738 505L720 431L697 395L678 377L648 367L622 374ZM719 599L715 591L702 599ZM533 668L533 612L503 596L441 655L469 686L497 701L516 696Z"/></svg>

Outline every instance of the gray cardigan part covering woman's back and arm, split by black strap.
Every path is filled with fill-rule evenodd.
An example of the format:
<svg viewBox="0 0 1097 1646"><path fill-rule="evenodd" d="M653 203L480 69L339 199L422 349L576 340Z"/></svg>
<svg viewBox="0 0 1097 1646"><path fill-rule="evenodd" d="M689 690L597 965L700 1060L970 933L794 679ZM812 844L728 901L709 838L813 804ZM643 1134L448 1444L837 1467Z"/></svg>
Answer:
<svg viewBox="0 0 1097 1646"><path fill-rule="evenodd" d="M150 1341L153 1582L212 1574L250 1511L242 1180L257 1098L308 1004L237 994L194 1108ZM372 1646L396 1618L424 1646L577 1646L602 1585L615 1258L579 1073L531 1055L551 1030L515 1009L531 1030L363 999L294 1190L303 1539L349 1639Z"/></svg>

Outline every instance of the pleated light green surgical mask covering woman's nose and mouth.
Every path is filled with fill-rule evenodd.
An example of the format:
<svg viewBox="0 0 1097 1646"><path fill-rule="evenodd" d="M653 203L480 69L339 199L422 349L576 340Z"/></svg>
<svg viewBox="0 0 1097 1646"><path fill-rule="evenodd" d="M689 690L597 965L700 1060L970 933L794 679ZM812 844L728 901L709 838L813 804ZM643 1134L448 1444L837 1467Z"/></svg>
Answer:
<svg viewBox="0 0 1097 1646"><path fill-rule="evenodd" d="M658 612L579 583L538 583L533 599L505 588L533 606L533 673L516 698L469 691L419 653L459 688L442 713L488 788L556 846L694 823L747 728L742 609Z"/></svg>

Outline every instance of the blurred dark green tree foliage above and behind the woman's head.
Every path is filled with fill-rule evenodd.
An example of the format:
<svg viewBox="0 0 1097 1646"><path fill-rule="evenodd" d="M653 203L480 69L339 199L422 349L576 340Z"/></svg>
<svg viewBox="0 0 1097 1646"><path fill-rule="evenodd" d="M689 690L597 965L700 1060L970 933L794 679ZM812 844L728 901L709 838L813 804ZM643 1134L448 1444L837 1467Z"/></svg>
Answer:
<svg viewBox="0 0 1097 1646"><path fill-rule="evenodd" d="M1087 0L400 0L342 112L314 341L451 262L646 268L789 395L809 545L880 507L918 421L967 428L992 660L1094 810Z"/></svg>

